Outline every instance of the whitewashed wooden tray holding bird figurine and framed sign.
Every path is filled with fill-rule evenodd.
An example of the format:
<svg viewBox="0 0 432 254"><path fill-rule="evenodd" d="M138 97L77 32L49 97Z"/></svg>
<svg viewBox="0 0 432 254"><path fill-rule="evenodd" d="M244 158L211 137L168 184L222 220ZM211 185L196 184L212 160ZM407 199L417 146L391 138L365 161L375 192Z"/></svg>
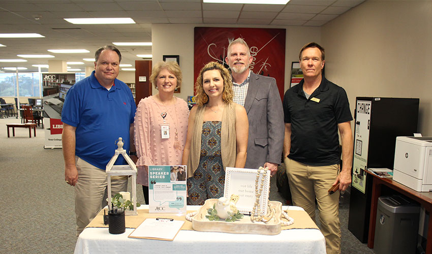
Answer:
<svg viewBox="0 0 432 254"><path fill-rule="evenodd" d="M196 231L206 232L224 232L236 234L259 234L259 235L277 235L281 233L282 203L278 201L269 201L270 207L275 208L275 214L267 224L253 223L249 215L244 215L240 220L227 222L225 220L209 221L205 215L208 215L207 209L213 208L213 204L218 199L207 199L198 213L192 217L192 228Z"/></svg>

